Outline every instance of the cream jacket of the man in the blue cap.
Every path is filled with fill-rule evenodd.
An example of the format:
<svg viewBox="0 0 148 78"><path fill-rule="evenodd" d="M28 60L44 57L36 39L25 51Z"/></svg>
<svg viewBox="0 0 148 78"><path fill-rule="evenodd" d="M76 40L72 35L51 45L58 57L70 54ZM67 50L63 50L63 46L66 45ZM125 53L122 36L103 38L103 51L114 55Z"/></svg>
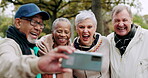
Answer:
<svg viewBox="0 0 148 78"><path fill-rule="evenodd" d="M35 55L22 55L14 40L6 38L0 41L0 78L35 78L42 73L37 66L38 60Z"/></svg>

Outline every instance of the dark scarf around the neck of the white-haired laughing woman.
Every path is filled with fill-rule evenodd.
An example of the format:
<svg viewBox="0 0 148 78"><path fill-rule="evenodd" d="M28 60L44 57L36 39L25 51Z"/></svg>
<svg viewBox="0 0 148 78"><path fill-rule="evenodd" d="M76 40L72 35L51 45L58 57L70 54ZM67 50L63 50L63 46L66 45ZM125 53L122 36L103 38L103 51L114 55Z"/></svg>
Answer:
<svg viewBox="0 0 148 78"><path fill-rule="evenodd" d="M76 38L75 41L74 41L74 47L76 49L79 49L79 50L82 50L82 51L88 51L97 44L98 39L99 39L99 34L94 35L94 39L95 40L93 41L92 45L88 47L88 46L81 45L79 43L79 38Z"/></svg>

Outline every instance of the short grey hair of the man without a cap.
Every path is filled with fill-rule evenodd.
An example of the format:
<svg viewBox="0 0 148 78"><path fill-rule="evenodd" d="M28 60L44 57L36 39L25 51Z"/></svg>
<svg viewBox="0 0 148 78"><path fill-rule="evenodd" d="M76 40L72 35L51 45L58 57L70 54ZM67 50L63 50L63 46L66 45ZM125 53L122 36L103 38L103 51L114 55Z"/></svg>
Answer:
<svg viewBox="0 0 148 78"><path fill-rule="evenodd" d="M127 10L127 12L129 13L130 17L132 18L132 12L131 12L131 8L126 6L126 5L117 5L112 9L112 13L111 13L111 17L113 17L113 15L120 13L123 10Z"/></svg>

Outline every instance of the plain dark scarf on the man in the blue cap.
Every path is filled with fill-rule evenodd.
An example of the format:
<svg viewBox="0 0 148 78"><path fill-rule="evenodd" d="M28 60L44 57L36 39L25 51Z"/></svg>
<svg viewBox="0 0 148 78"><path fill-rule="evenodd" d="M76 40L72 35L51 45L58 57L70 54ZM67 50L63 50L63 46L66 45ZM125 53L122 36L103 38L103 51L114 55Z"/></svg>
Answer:
<svg viewBox="0 0 148 78"><path fill-rule="evenodd" d="M33 47L35 47L35 44L28 42L26 35L24 33L21 33L14 26L10 26L6 31L6 33L7 33L7 38L11 38L19 44L23 55L32 54L30 48L33 49Z"/></svg>

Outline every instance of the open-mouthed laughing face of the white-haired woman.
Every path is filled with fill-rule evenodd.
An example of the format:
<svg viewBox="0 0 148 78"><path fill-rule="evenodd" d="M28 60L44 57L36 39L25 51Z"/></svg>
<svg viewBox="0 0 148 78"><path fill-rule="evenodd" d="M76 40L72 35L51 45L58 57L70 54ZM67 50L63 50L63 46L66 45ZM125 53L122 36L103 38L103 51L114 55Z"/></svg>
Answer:
<svg viewBox="0 0 148 78"><path fill-rule="evenodd" d="M91 19L85 19L78 23L76 26L76 31L80 37L80 44L89 46L94 41L94 34L96 31L96 26L94 21Z"/></svg>

